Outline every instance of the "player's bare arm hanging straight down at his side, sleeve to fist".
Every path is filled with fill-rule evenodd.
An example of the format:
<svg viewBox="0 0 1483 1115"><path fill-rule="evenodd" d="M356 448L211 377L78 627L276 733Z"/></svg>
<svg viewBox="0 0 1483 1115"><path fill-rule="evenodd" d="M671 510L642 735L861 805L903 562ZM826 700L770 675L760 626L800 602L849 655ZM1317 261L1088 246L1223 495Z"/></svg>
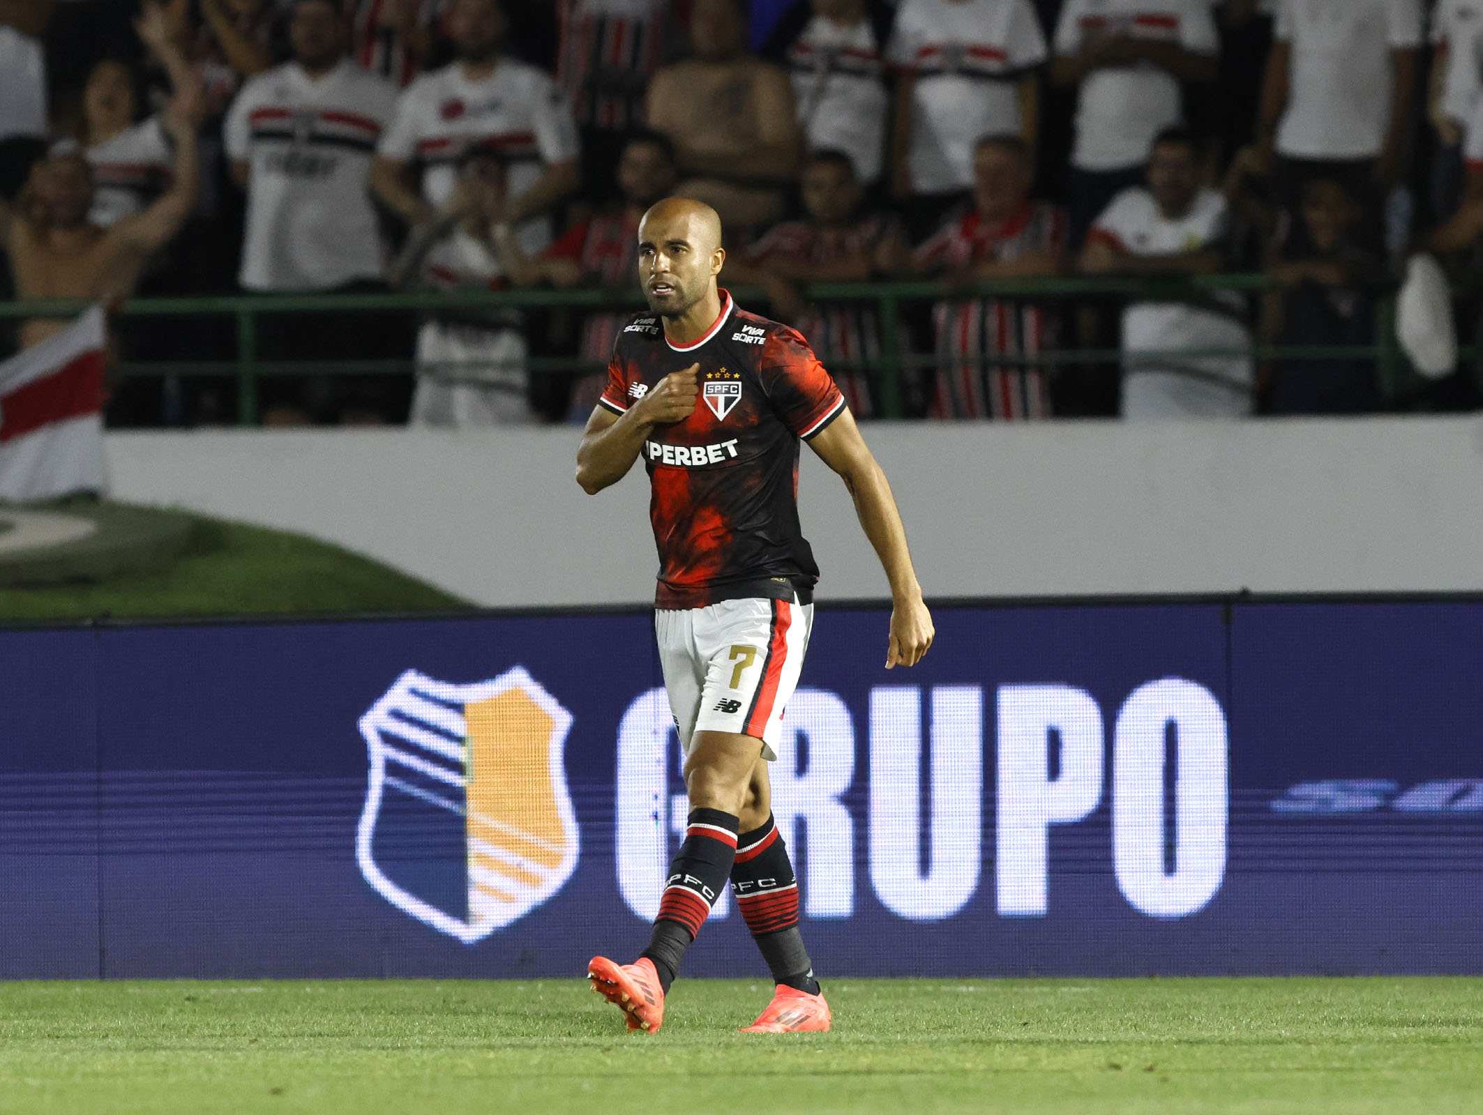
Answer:
<svg viewBox="0 0 1483 1115"><path fill-rule="evenodd" d="M931 646L931 612L922 602L912 555L906 547L906 528L896 509L896 497L871 446L860 436L854 415L842 411L808 442L810 448L833 469L850 489L865 537L871 540L885 577L891 584L891 639L885 669L915 666Z"/></svg>

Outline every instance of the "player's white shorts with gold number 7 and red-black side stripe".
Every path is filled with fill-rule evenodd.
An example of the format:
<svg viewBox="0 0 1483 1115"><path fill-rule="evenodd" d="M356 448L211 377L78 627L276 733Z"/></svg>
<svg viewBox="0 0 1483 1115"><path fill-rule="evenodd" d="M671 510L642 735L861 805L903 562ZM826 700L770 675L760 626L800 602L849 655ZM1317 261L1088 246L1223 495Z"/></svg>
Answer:
<svg viewBox="0 0 1483 1115"><path fill-rule="evenodd" d="M762 758L783 731L783 709L804 669L814 605L749 598L654 612L658 663L679 746L697 731L755 735Z"/></svg>

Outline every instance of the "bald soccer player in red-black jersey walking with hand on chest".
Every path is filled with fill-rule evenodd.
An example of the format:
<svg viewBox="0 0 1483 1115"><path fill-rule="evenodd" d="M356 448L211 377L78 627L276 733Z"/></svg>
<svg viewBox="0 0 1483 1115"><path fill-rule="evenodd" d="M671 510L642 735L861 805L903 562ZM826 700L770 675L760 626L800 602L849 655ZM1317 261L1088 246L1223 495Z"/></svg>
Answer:
<svg viewBox="0 0 1483 1115"><path fill-rule="evenodd" d="M658 1030L681 958L730 876L777 983L753 1033L829 1029L798 931L798 885L773 821L767 762L813 626L819 568L798 523L798 442L845 482L891 584L885 667L915 666L933 623L896 500L844 396L792 329L716 286L721 219L670 197L639 224L653 313L618 334L608 386L577 451L589 494L644 457L660 574L654 627L685 752L690 826L635 964L595 956L592 989L630 1030Z"/></svg>

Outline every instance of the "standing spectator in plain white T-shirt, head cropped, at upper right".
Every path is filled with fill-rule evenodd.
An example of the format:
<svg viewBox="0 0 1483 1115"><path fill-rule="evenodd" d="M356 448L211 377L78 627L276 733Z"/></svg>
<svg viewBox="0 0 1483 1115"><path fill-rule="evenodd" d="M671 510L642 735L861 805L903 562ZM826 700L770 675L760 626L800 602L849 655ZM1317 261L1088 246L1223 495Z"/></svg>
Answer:
<svg viewBox="0 0 1483 1115"><path fill-rule="evenodd" d="M1258 139L1272 197L1296 212L1308 179L1333 178L1378 239L1410 154L1421 0L1277 3Z"/></svg>

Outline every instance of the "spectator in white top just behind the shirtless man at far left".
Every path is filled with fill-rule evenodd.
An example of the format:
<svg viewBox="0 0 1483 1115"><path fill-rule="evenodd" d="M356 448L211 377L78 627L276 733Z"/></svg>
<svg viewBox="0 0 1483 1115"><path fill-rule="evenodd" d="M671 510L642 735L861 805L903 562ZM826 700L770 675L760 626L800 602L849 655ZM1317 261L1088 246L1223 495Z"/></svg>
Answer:
<svg viewBox="0 0 1483 1115"><path fill-rule="evenodd" d="M157 3L144 4L135 28L165 70L171 89L191 80L190 65ZM93 65L83 87L77 142L93 169L93 208L87 219L99 228L139 212L159 197L175 165L175 151L159 114L139 119L144 107L139 86L133 65L105 58Z"/></svg>

